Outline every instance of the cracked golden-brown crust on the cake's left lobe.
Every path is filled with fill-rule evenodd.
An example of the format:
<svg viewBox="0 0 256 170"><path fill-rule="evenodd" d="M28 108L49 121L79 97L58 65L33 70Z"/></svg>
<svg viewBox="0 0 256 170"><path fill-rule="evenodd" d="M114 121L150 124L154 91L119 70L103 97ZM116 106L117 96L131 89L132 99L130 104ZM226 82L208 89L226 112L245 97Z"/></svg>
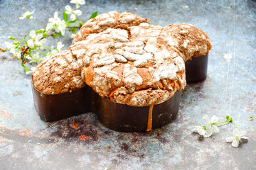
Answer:
<svg viewBox="0 0 256 170"><path fill-rule="evenodd" d="M42 62L32 74L33 85L43 94L60 94L85 86L81 79L81 64L70 50L58 53Z"/></svg>

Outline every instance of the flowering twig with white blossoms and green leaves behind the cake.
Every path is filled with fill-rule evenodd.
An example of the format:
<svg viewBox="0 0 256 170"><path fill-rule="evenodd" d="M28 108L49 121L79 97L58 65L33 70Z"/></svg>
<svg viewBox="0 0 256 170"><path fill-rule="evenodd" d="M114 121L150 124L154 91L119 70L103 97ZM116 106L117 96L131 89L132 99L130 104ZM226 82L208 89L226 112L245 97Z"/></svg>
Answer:
<svg viewBox="0 0 256 170"><path fill-rule="evenodd" d="M48 47L44 45L46 39L49 37L58 38L65 35L65 30L69 30L72 35L71 38L75 37L75 33L81 28L85 21L81 21L80 16L82 11L80 11L80 5L85 4L85 0L71 0L70 4L75 4L76 9L73 9L70 5L63 8L63 19L58 17L58 12L55 12L52 18L48 19L46 28L41 28L38 30L36 24L33 21L32 14L34 11L26 11L23 13L19 19L28 18L32 23L35 30L31 30L29 36L26 34L22 39L18 40L12 36L9 39L13 42L5 42L6 49L0 48L0 52L11 52L14 57L17 57L21 62L21 66L25 70L26 74L31 74L35 69L36 65L46 60L48 57L55 55L60 52L61 48L64 46L62 42L58 42L57 47ZM68 19L70 16L70 20ZM97 12L92 13L91 18L97 16ZM34 63L35 67L28 70L26 63Z"/></svg>

